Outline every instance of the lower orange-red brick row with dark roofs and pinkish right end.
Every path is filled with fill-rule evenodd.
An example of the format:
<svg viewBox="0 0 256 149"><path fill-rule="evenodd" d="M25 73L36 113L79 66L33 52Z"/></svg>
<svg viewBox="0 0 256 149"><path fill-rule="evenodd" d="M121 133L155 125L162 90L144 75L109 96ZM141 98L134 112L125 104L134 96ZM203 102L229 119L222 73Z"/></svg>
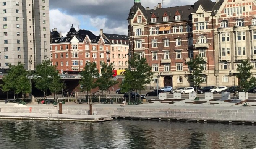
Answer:
<svg viewBox="0 0 256 149"><path fill-rule="evenodd" d="M109 35L112 37L109 37ZM112 38L115 38L114 42L111 42ZM112 63L111 49L113 45L111 47L111 44L116 45L115 50L122 48L125 51L125 49L128 49L126 40L128 40L128 36L124 35L104 34L101 32L99 36L96 36L88 30L80 29L76 31L73 25L66 37L63 37L62 33L55 28L51 32L50 51L52 65L55 65L60 73L63 73L63 71L82 71L86 63L95 62L100 70L100 62ZM115 61L113 60L115 63L114 69L128 67L125 66L128 60L125 53L121 52L121 50L119 51L119 49L115 53L123 55L123 57L115 57Z"/></svg>

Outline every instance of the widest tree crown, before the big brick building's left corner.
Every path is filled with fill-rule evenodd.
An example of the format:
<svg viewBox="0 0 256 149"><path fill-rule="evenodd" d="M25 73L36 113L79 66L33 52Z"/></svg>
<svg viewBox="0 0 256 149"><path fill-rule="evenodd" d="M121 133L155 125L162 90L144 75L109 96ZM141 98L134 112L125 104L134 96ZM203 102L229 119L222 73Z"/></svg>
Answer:
<svg viewBox="0 0 256 149"><path fill-rule="evenodd" d="M130 69L126 69L125 79L123 79L120 85L122 92L128 92L129 90L142 91L145 89L145 84L152 81L152 75L154 74L148 65L146 58L138 60L137 56L128 61Z"/></svg>

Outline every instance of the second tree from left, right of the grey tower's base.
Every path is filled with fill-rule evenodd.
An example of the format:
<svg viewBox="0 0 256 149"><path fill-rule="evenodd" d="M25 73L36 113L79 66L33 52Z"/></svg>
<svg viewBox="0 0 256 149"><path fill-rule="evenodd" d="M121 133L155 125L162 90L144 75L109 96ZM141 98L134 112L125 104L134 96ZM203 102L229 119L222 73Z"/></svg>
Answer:
<svg viewBox="0 0 256 149"><path fill-rule="evenodd" d="M41 64L38 64L36 67L36 88L46 93L47 98L47 89L50 88L53 84L53 78L58 75L56 71L56 66L51 65L50 60L43 60Z"/></svg>

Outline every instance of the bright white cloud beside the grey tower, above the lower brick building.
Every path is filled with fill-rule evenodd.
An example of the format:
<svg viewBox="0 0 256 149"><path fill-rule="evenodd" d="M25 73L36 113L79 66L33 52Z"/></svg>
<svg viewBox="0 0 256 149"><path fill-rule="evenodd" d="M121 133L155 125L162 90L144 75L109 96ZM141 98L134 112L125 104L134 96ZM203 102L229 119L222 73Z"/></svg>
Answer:
<svg viewBox="0 0 256 149"><path fill-rule="evenodd" d="M50 10L50 28L57 28L58 32L62 32L62 36L66 36L67 32L71 28L71 24L79 24L77 16L66 15L58 9Z"/></svg>

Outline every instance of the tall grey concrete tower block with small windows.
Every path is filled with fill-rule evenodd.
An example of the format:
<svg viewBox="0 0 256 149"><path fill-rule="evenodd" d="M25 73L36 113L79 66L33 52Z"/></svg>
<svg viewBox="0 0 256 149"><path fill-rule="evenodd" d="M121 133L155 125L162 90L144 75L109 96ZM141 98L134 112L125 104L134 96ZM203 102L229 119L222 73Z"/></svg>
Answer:
<svg viewBox="0 0 256 149"><path fill-rule="evenodd" d="M0 67L34 70L50 57L49 0L0 0Z"/></svg>

